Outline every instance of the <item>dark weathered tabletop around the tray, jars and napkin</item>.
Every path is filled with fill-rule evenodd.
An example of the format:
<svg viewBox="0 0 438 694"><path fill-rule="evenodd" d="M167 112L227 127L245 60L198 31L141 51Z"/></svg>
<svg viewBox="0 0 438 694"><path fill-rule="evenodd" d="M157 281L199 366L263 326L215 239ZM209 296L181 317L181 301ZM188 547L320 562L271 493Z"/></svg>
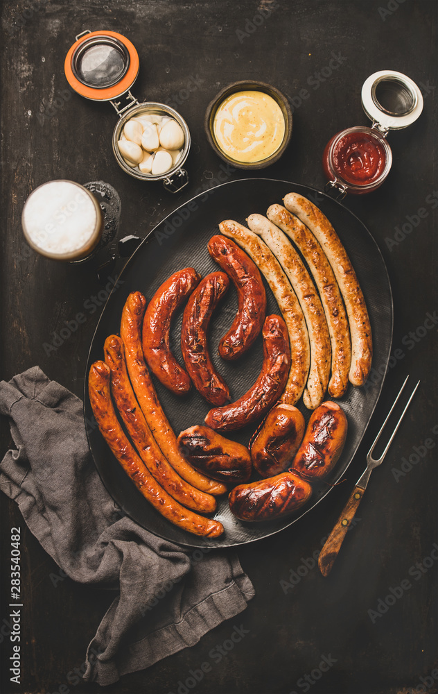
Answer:
<svg viewBox="0 0 438 694"><path fill-rule="evenodd" d="M249 634L221 663L213 665L195 691L305 691L297 685L299 678L318 668L323 654L331 654L336 662L309 686L311 694L408 694L438 666L436 564L418 581L408 573L417 561L430 555L438 541L436 446L411 471L398 477L398 482L394 477L403 456L409 457L414 446L433 437L432 428L438 423L437 330L428 330L426 336L416 337L418 341L407 337L423 326L428 312L438 309L436 214L428 202L432 199L428 196L438 189L434 108L438 3L107 0L104 5L92 0L33 0L33 9L30 4L6 1L2 10L3 378L39 364L49 378L79 396L98 312L89 315L50 357L43 344L82 310L84 301L100 285L89 266L56 264L28 250L20 215L33 188L55 178L80 183L107 180L122 199L119 235L144 236L195 192L215 185L221 162L207 144L203 119L207 103L227 83L245 78L272 83L295 107L300 90L308 90L308 99L295 108L288 151L261 175L319 189L324 187L321 157L328 139L342 128L367 124L360 104L360 88L367 76L380 69L395 69L421 87L424 110L420 119L408 130L389 134L394 162L387 182L377 192L345 201L369 228L385 257L394 294L393 350L401 350L392 360L395 365L387 373L347 482L290 529L239 549L243 568L256 588L256 598L241 615L209 632L195 647L106 688L121 694L176 692L178 680L184 681L189 670L209 660L209 650L229 638L234 625L243 625ZM253 17L270 6L274 7L271 15L252 31ZM133 92L141 100L175 103L175 96L190 78L202 80L189 98L177 96L181 101L177 108L192 136L186 162L190 184L182 193L172 196L159 184L148 185L124 174L111 149L116 124L112 107L66 94L64 57L75 35L86 28L112 29L132 40L141 61ZM318 82L315 73L329 65L332 51L345 60L329 78ZM246 176L236 172L230 180ZM405 224L407 217L415 221L419 208L426 209L426 217L390 250L385 238L394 238L395 228ZM374 366L377 369L379 364ZM289 581L290 570L303 565L330 532L408 373L421 379L419 393L385 464L371 477L358 511L360 521L347 535L333 572L323 579L317 568L310 568L285 594L280 581ZM2 450L6 450L11 445L8 424L3 421L2 425ZM67 672L82 665L87 644L112 595L68 578L54 587L50 574L58 573L57 566L26 530L15 503L4 496L1 501L2 557L8 557L10 527L23 528L25 604L22 684L9 682L11 645L6 638L1 691L58 691L61 684L67 684ZM3 561L1 618L8 615L8 568ZM376 610L389 587L399 586L406 578L412 588L372 623L368 610ZM430 684L430 679L426 682ZM69 689L75 693L104 691L82 682ZM437 683L428 691L436 692Z"/></svg>

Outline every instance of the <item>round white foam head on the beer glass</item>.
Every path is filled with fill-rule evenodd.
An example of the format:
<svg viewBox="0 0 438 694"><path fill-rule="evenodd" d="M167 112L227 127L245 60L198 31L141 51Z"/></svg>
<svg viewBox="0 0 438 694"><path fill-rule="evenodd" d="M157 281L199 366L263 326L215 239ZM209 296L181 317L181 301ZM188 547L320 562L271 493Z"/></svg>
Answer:
<svg viewBox="0 0 438 694"><path fill-rule="evenodd" d="M30 194L22 220L30 244L42 253L63 256L89 245L97 232L98 210L82 186L52 180Z"/></svg>

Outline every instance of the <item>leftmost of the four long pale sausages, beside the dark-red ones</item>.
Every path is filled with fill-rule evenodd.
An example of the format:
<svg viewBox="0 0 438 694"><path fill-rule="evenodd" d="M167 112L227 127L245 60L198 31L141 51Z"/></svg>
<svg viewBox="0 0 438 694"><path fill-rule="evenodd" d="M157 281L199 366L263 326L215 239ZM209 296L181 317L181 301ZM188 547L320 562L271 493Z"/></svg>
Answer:
<svg viewBox="0 0 438 694"><path fill-rule="evenodd" d="M288 326L291 351L290 371L281 401L295 405L304 391L310 366L306 321L304 321L295 291L290 286L277 258L254 232L231 220L222 221L219 228L222 234L234 239L252 257L277 300L283 319Z"/></svg>

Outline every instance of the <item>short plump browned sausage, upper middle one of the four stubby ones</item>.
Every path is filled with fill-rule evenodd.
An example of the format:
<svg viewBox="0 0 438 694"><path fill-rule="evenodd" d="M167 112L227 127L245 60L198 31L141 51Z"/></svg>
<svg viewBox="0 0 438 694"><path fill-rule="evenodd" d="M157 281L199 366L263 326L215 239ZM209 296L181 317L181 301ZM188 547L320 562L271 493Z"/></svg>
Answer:
<svg viewBox="0 0 438 694"><path fill-rule="evenodd" d="M262 477L286 470L303 440L306 422L297 407L281 403L272 407L251 446L254 468Z"/></svg>

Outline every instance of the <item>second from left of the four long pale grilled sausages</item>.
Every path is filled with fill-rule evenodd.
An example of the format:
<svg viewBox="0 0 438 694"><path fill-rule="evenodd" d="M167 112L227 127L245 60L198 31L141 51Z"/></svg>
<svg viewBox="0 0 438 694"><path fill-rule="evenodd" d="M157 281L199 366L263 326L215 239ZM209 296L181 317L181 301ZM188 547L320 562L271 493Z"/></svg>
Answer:
<svg viewBox="0 0 438 694"><path fill-rule="evenodd" d="M247 223L277 257L295 289L304 313L310 341L310 371L303 402L308 409L315 409L324 400L331 368L330 334L321 300L304 263L286 234L261 214L249 215Z"/></svg>

